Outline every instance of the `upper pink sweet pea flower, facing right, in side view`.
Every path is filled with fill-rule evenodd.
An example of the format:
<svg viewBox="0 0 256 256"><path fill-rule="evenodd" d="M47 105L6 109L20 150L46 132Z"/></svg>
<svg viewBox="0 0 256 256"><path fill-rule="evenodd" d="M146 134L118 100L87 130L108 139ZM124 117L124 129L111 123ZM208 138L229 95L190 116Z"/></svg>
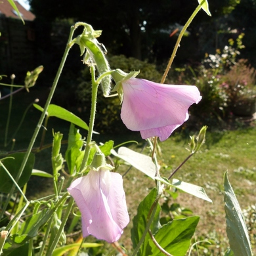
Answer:
<svg viewBox="0 0 256 256"><path fill-rule="evenodd" d="M121 119L142 139L168 139L188 119L188 108L202 99L196 86L165 85L131 77L121 82L123 105Z"/></svg>

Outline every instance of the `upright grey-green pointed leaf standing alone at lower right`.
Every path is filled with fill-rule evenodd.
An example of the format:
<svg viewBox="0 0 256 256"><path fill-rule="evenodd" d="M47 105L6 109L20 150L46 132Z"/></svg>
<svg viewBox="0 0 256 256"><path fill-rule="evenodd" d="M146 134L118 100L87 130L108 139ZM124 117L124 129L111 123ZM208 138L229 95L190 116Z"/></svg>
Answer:
<svg viewBox="0 0 256 256"><path fill-rule="evenodd" d="M230 248L235 256L253 255L246 224L236 195L228 181L228 173L224 174L224 202L226 213L226 234Z"/></svg>

